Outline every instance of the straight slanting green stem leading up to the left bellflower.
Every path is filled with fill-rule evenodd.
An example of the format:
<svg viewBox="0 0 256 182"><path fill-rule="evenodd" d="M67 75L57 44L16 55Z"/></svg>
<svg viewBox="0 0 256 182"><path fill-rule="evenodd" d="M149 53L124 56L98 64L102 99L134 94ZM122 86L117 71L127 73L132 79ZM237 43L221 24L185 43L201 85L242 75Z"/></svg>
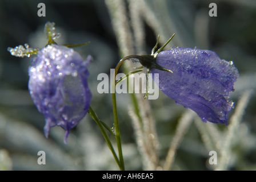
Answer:
<svg viewBox="0 0 256 182"><path fill-rule="evenodd" d="M102 123L99 120L97 114L93 111L93 109L91 109L91 106L89 107L89 111L88 113L91 115L91 118L93 118L93 120L97 123L97 125L99 126L99 129L101 130L101 133L103 134L103 137L105 138L106 142L107 142L107 146L109 146L110 151L112 152L114 158L115 158L115 162L117 162L118 167L120 168L120 170L122 170L122 166L117 158L117 154L115 154L115 150L109 140L109 136L107 135L106 131L103 129Z"/></svg>

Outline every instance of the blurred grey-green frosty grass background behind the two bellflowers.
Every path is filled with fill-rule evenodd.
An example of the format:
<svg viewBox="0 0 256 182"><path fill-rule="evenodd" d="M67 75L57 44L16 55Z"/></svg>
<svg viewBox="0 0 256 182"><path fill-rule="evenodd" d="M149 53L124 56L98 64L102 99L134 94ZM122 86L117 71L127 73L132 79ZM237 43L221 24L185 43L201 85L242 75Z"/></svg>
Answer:
<svg viewBox="0 0 256 182"><path fill-rule="evenodd" d="M37 15L37 5L41 2L46 5L46 17ZM217 17L209 16L209 4L212 2L217 4ZM126 19L121 16L117 19L116 12ZM136 24L136 17L141 18L139 24ZM122 20L129 27L125 27ZM158 144L154 146L157 156L145 159L145 151L138 147L138 133L134 130L131 97L129 94L117 94L125 167L129 170L161 170L166 164L168 151L173 150L176 157L171 159L174 161L170 169L212 170L218 167L209 164L209 152L219 150L218 162L221 163L223 159L219 158L224 158L222 152L226 147L230 150L224 151L229 162L222 169L256 169L256 97L254 92L245 92L256 88L255 20L254 0L0 0L0 170L118 169L101 132L88 114L71 130L67 144L63 144L64 130L61 127L51 128L49 139L43 136L43 115L38 112L27 90L31 57L11 56L7 47L25 43L33 48L44 47L47 39L43 26L47 21L55 22L56 32L62 35L56 40L58 44L91 42L88 46L74 49L84 59L89 54L94 57L89 66L89 86L93 94L91 107L110 127L114 123L111 94L97 92L97 85L101 82L97 76L99 73L110 75L110 69L122 56L127 56L129 51L122 47L127 42L134 44L133 53L150 53L158 34L161 34L160 43L163 44L175 33L169 48L196 46L215 51L227 61L233 60L240 77L230 99L237 108L243 95L245 100L241 103L245 106L241 111L246 108L246 112L240 119L241 124L233 129L230 142L225 143L231 129L198 121L193 113L159 91L159 98L149 101L157 134L154 137L158 137ZM141 31L136 26L141 26ZM130 37L126 36L129 32ZM142 32L142 35L137 32ZM122 44L122 39L127 40ZM248 105L246 99L250 100ZM234 111L229 113L229 123ZM190 114L191 121L186 119L187 114ZM182 118L191 125L183 125ZM181 136L177 137L179 134ZM110 139L115 143L113 137ZM37 163L37 152L41 150L46 152L46 165ZM150 162L156 161L158 164L151 168Z"/></svg>

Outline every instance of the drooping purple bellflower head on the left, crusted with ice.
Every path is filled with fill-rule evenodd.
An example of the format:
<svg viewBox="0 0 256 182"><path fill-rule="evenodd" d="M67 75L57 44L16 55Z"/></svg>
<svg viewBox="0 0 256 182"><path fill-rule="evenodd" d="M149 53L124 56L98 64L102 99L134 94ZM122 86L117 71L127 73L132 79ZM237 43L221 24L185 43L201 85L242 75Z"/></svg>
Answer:
<svg viewBox="0 0 256 182"><path fill-rule="evenodd" d="M83 61L74 49L49 44L31 60L29 90L34 104L45 116L45 137L50 127L61 126L66 143L70 129L85 117L91 100L87 85L91 59L88 56Z"/></svg>

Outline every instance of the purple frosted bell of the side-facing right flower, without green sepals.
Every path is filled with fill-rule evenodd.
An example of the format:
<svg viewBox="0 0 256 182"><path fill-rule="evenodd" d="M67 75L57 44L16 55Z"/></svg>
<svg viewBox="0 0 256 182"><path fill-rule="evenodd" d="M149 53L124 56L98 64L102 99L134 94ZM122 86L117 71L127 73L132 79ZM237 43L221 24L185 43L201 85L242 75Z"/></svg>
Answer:
<svg viewBox="0 0 256 182"><path fill-rule="evenodd" d="M159 73L159 88L177 104L194 110L202 121L225 123L233 106L228 101L239 74L233 62L221 60L209 50L172 48L157 56L157 64L173 73L151 69Z"/></svg>

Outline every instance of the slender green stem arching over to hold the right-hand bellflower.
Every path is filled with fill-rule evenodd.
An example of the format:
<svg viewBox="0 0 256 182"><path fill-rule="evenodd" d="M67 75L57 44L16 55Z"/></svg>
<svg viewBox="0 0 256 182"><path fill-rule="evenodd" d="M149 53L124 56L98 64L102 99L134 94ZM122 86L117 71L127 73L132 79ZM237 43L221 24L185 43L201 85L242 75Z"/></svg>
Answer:
<svg viewBox="0 0 256 182"><path fill-rule="evenodd" d="M121 64L131 58L138 58L141 56L138 55L130 55L126 56L123 59L119 61L117 66L115 67L115 74L113 76L113 81L111 85L111 93L112 93L112 105L113 105L113 115L114 115L114 124L115 124L115 138L117 139L117 148L118 148L118 154L119 154L119 159L120 159L120 169L121 171L125 170L125 164L123 162L123 154L122 154L122 145L121 145L121 137L120 137L120 130L119 130L119 124L118 124L118 116L117 116L117 98L115 97L115 77L117 76L117 72Z"/></svg>

